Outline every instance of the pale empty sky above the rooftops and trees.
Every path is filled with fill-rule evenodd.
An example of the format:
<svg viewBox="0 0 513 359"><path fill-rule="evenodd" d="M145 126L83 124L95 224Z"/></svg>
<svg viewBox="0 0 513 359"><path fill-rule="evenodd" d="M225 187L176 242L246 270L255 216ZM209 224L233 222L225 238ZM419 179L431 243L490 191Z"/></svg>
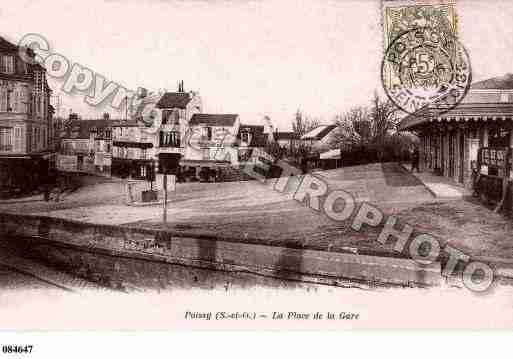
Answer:
<svg viewBox="0 0 513 359"><path fill-rule="evenodd" d="M268 115L290 129L300 109L323 123L383 93L380 0L17 0L0 7L3 36L44 36L52 51L129 89L198 91L204 112ZM513 1L457 1L473 79L513 72ZM50 81L55 94L62 81ZM61 114L96 117L84 94Z"/></svg>

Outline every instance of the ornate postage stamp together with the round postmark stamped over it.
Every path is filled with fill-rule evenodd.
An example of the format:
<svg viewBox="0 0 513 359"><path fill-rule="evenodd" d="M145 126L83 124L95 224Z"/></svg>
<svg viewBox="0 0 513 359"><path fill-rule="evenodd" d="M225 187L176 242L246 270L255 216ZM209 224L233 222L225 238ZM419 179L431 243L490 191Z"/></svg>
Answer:
<svg viewBox="0 0 513 359"><path fill-rule="evenodd" d="M385 53L381 75L387 96L413 113L437 103L454 108L470 87L467 51L457 37L454 3L383 2Z"/></svg>

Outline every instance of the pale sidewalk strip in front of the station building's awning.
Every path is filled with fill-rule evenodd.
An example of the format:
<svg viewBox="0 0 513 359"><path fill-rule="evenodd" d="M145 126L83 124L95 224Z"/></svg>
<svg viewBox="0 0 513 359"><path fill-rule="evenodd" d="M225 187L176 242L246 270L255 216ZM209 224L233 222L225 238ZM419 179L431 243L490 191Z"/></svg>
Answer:
<svg viewBox="0 0 513 359"><path fill-rule="evenodd" d="M453 180L437 176L430 172L410 172L410 168L404 164L401 166L414 177L416 177L426 189L437 199L463 199L472 196L472 191L454 182Z"/></svg>

